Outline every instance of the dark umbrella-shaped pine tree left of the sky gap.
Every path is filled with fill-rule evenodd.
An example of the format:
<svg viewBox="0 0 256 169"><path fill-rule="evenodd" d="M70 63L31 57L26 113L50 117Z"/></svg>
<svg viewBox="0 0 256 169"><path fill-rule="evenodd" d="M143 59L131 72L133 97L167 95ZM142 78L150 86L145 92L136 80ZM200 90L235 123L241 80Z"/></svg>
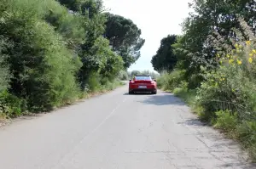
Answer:
<svg viewBox="0 0 256 169"><path fill-rule="evenodd" d="M111 47L122 56L127 69L140 57L140 49L145 40L141 38L142 31L132 20L125 19L116 14L105 13L107 16L105 37Z"/></svg>

